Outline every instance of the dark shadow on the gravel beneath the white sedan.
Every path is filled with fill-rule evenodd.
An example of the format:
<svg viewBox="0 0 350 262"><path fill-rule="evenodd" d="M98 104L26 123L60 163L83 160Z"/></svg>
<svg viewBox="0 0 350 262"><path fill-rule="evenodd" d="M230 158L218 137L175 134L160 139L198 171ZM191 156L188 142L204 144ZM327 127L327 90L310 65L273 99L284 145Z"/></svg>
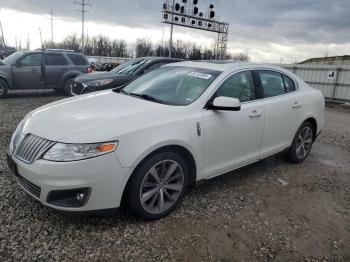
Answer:
<svg viewBox="0 0 350 262"><path fill-rule="evenodd" d="M201 181L198 186L190 188L189 192L184 198L184 201L192 201L191 198L205 198L208 194L216 191L222 191L228 187L232 190L237 190L241 184L246 183L251 180L255 180L257 176L261 175L264 169L268 171L269 167L278 167L280 165L287 164L283 161L280 155L271 156L269 158L263 159L261 161L255 162L248 166L236 169L231 172L227 172L220 176L211 178L209 180ZM245 181L245 182L244 182ZM38 209L38 213L43 214L43 216L36 216L36 219L47 221L49 217L52 221L62 221L63 224L69 223L75 226L92 226L92 225L109 225L113 226L115 224L145 224L152 223L152 221L145 221L143 219L135 218L128 213L125 207L121 207L118 210L107 211L107 212L86 212L86 213L74 213L74 212L62 212L58 210L51 209L49 207L43 206L36 200L28 196L28 199L24 201L30 201L34 208ZM185 203L182 203L183 206ZM32 207L33 208L33 207ZM176 210L174 211L177 212ZM172 214L169 215L171 219ZM168 217L168 218L169 218ZM162 219L158 220L161 221ZM65 221L65 222L64 222Z"/></svg>

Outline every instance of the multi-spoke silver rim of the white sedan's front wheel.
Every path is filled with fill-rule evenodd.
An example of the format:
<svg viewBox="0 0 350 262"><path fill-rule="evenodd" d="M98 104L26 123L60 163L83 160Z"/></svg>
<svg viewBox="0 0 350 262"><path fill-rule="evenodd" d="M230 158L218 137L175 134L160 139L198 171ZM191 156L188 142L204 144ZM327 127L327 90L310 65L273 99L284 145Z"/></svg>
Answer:
<svg viewBox="0 0 350 262"><path fill-rule="evenodd" d="M160 214L171 208L180 197L184 173L174 160L163 160L148 170L144 177L140 201L149 213Z"/></svg>

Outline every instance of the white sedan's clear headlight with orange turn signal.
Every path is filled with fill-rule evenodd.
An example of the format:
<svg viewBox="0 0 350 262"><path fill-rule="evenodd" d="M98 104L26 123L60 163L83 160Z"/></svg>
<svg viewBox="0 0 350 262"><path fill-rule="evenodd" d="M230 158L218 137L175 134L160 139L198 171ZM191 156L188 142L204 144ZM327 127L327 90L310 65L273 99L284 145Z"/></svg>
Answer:
<svg viewBox="0 0 350 262"><path fill-rule="evenodd" d="M57 162L83 160L113 152L117 145L117 141L96 144L57 143L46 152L43 159Z"/></svg>

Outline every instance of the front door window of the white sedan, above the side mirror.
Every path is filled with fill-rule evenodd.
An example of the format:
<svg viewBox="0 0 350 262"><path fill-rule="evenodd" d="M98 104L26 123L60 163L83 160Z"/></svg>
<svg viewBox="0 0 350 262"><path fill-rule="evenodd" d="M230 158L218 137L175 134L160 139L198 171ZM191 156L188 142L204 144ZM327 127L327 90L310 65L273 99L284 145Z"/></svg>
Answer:
<svg viewBox="0 0 350 262"><path fill-rule="evenodd" d="M252 72L234 74L219 87L215 96L238 98L241 102L256 99Z"/></svg>

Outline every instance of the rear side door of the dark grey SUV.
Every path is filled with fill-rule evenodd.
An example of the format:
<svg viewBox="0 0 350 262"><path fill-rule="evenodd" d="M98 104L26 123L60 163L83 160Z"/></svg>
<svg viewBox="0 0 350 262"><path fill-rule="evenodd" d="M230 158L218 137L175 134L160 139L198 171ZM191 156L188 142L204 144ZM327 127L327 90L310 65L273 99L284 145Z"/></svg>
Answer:
<svg viewBox="0 0 350 262"><path fill-rule="evenodd" d="M68 70L68 62L63 54L45 53L44 66L45 87L60 87L61 80Z"/></svg>

